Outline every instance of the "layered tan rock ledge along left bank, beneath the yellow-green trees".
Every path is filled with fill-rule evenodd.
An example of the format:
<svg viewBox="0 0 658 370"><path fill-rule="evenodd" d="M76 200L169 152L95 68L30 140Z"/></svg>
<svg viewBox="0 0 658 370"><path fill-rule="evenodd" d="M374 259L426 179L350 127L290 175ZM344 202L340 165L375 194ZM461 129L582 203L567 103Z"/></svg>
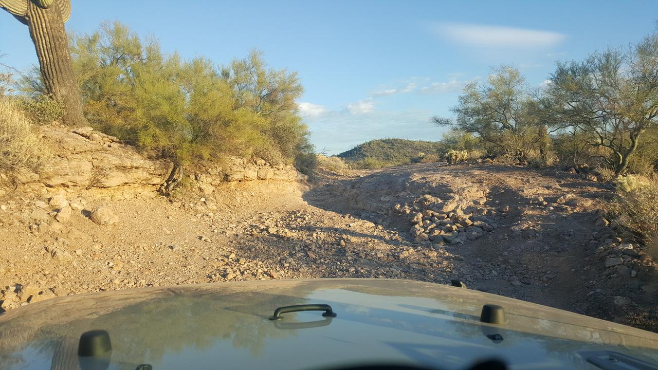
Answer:
<svg viewBox="0 0 658 370"><path fill-rule="evenodd" d="M134 147L91 127L68 129L53 124L40 128L53 159L39 172L19 174L22 184L49 188L114 188L158 186L172 169L169 161L144 157ZM194 175L200 187L251 180L305 180L291 165L270 165L263 159L227 157L219 165Z"/></svg>

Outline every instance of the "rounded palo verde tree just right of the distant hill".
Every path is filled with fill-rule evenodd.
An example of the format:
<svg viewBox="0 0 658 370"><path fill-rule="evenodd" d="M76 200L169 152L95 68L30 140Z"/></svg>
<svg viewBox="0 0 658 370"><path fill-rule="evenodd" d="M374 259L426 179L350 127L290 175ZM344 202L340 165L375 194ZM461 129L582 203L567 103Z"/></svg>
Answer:
<svg viewBox="0 0 658 370"><path fill-rule="evenodd" d="M534 114L536 102L517 68L495 68L485 84L471 82L451 112L456 119L432 117L437 126L476 134L490 147L513 159L526 159L545 140L546 130Z"/></svg>

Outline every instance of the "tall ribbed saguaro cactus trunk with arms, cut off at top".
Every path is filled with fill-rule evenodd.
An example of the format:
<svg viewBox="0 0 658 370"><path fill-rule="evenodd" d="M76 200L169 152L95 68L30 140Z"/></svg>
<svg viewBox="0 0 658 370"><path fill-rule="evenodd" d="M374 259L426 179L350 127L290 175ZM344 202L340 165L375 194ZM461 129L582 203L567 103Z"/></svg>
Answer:
<svg viewBox="0 0 658 370"><path fill-rule="evenodd" d="M0 0L0 7L30 28L43 84L53 99L66 106L64 123L86 124L64 30L70 0Z"/></svg>

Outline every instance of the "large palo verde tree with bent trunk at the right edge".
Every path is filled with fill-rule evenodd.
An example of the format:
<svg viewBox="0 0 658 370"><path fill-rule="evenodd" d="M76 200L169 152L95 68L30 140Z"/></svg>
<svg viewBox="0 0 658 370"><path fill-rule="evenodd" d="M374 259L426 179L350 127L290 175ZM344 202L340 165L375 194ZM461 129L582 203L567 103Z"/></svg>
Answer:
<svg viewBox="0 0 658 370"><path fill-rule="evenodd" d="M658 121L658 32L628 49L557 63L542 102L551 126L584 132L615 175L627 171L640 138Z"/></svg>

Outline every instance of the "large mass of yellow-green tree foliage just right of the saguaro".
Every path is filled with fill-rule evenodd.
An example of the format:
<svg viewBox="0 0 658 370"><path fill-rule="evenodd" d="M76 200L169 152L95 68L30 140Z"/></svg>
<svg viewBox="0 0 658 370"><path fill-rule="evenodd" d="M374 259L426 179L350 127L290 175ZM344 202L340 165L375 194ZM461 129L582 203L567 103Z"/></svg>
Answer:
<svg viewBox="0 0 658 370"><path fill-rule="evenodd" d="M89 122L157 157L291 163L312 151L297 115L299 78L269 68L258 51L216 68L203 57L165 55L158 41L118 22L75 36L70 48Z"/></svg>

